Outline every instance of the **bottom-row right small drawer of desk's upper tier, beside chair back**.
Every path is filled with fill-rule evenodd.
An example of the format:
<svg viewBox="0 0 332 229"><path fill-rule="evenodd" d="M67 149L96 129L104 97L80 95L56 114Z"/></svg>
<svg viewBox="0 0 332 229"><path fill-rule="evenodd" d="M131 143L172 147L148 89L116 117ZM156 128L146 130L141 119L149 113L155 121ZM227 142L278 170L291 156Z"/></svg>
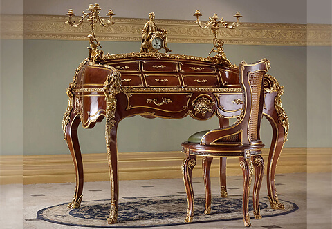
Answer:
<svg viewBox="0 0 332 229"><path fill-rule="evenodd" d="M220 82L217 75L183 75L183 85L195 88L219 88Z"/></svg>

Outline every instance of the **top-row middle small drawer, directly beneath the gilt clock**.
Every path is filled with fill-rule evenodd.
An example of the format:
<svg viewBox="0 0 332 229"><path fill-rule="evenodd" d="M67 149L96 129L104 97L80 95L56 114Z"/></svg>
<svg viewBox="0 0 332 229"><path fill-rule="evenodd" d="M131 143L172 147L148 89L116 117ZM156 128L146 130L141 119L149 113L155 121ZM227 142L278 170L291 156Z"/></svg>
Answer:
<svg viewBox="0 0 332 229"><path fill-rule="evenodd" d="M178 63L172 61L142 61L143 72L178 72Z"/></svg>

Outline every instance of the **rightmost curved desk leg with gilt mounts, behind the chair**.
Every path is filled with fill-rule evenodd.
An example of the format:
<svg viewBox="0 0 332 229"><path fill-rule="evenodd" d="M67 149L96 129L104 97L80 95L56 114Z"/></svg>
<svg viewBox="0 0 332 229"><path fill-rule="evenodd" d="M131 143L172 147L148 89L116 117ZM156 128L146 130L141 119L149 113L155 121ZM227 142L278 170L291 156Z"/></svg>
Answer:
<svg viewBox="0 0 332 229"><path fill-rule="evenodd" d="M282 108L282 100L280 99L282 94L284 94L283 87L279 86L279 83L277 83L274 77L270 79L275 81L275 88L272 92L266 93L266 108L264 108L266 109L264 110L264 115L270 122L273 130L273 137L268 155L268 168L266 171L268 199L270 200L271 208L284 209L284 205L279 203L277 189L275 188L275 169L277 168L277 163L282 148L284 147L284 143L287 141L289 122L286 112L284 108Z"/></svg>

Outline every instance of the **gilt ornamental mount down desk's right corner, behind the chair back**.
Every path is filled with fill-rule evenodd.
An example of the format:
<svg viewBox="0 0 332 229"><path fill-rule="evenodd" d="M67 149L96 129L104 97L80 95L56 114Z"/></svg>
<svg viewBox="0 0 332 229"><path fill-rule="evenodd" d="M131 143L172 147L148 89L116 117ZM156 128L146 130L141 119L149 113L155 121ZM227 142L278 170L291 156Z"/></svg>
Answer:
<svg viewBox="0 0 332 229"><path fill-rule="evenodd" d="M267 93L277 92L277 96L275 97L275 110L278 114L278 121L279 124L285 129L284 134L284 144L286 143L288 129L289 129L289 121L288 116L282 107L282 94L284 94L284 86L280 86L279 82L275 77L271 76L270 74L264 75L264 91ZM284 146L283 144L283 146Z"/></svg>

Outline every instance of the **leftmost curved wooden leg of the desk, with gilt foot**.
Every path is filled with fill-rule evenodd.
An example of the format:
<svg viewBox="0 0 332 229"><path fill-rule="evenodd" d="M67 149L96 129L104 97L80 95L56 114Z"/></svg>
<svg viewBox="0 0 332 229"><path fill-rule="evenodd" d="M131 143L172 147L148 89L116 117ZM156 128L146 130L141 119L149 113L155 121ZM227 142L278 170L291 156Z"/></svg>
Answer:
<svg viewBox="0 0 332 229"><path fill-rule="evenodd" d="M66 125L66 142L75 167L76 186L73 201L68 204L68 208L80 208L82 201L82 191L84 184L83 162L80 150L80 143L78 142L77 128L80 125L80 115L71 115L69 123Z"/></svg>

